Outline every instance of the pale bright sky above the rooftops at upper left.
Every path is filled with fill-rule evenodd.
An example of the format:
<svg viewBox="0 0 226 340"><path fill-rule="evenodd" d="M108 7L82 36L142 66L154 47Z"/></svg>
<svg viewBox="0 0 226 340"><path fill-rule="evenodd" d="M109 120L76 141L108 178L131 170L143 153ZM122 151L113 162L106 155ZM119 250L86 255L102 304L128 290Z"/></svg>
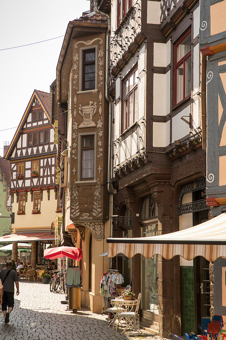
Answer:
<svg viewBox="0 0 226 340"><path fill-rule="evenodd" d="M89 8L88 0L1 1L0 49L64 36L69 21ZM4 141L11 142L34 89L50 91L62 43L63 37L0 51L0 156Z"/></svg>

